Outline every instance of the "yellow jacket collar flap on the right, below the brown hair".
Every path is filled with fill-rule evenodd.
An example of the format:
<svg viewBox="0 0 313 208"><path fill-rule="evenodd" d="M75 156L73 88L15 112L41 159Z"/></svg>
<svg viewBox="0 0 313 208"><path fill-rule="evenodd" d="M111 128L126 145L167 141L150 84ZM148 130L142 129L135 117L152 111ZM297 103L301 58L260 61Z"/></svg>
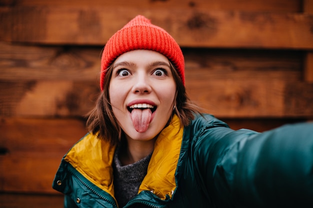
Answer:
<svg viewBox="0 0 313 208"><path fill-rule="evenodd" d="M183 126L176 115L163 129L154 144L154 151L138 193L151 191L160 199L170 198L176 189L175 173L179 159Z"/></svg>

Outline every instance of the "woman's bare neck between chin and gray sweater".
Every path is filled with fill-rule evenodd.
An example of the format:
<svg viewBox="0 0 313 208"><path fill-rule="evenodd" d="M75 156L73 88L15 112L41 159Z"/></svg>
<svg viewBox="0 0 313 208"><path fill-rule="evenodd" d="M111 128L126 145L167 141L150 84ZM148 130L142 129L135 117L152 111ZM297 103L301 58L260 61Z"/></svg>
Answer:
<svg viewBox="0 0 313 208"><path fill-rule="evenodd" d="M146 156L154 149L155 138L149 141L135 141L126 139L126 145L120 150L119 160L121 165L133 164Z"/></svg>

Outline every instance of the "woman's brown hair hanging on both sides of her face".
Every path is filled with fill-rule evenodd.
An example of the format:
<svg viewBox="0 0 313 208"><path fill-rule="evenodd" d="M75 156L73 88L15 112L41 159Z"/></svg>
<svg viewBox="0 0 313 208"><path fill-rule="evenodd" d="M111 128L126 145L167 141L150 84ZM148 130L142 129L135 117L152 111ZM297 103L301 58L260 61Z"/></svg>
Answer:
<svg viewBox="0 0 313 208"><path fill-rule="evenodd" d="M188 98L185 87L174 66L169 62L170 70L176 83L173 114L176 114L183 126L187 126L194 118L194 114L201 114L199 107L192 104ZM89 132L95 134L99 139L110 142L111 145L119 143L122 129L112 113L109 99L109 82L112 75L113 64L105 71L103 90L99 95L95 107L88 114L86 127Z"/></svg>

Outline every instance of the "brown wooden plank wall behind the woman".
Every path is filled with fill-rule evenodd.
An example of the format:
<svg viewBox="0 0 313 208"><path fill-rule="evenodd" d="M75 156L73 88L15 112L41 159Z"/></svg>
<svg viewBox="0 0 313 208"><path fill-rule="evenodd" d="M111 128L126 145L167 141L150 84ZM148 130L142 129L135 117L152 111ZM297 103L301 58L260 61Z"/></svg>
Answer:
<svg viewBox="0 0 313 208"><path fill-rule="evenodd" d="M185 55L191 99L231 128L313 119L313 0L0 0L0 207L61 208L101 49L137 14Z"/></svg>

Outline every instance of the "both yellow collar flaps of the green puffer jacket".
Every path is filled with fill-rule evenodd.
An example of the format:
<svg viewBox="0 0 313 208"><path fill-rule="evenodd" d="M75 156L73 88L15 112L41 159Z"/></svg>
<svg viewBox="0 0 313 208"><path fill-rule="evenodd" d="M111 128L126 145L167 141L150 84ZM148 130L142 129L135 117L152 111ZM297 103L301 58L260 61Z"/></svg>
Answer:
<svg viewBox="0 0 313 208"><path fill-rule="evenodd" d="M160 199L172 197L176 189L175 173L179 159L183 126L174 115L170 124L159 134L149 162L147 175L138 193L151 191ZM87 134L64 156L83 177L98 188L114 196L112 162L115 147L107 141Z"/></svg>

